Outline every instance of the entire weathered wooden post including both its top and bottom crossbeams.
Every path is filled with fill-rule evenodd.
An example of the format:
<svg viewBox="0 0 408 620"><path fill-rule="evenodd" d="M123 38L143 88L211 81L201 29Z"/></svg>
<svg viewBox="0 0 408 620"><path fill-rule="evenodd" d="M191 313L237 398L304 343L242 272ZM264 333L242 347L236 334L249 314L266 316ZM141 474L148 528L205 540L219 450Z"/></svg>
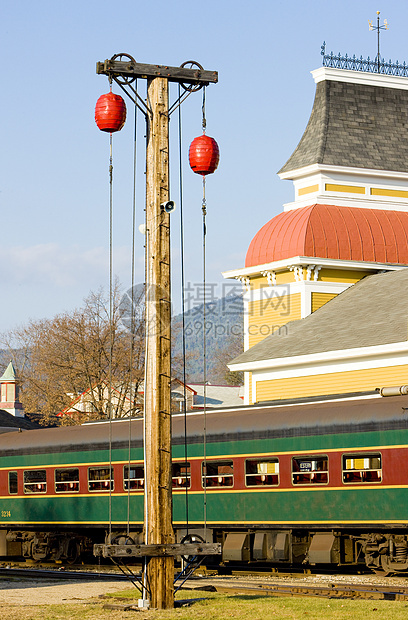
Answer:
<svg viewBox="0 0 408 620"><path fill-rule="evenodd" d="M186 67L184 65L190 65ZM96 72L116 81L140 108L131 84L147 79L146 116L146 306L147 355L145 385L145 530L144 545L99 544L103 557L146 557L150 604L156 609L174 605L174 557L216 555L217 543L175 544L172 526L171 403L170 403L170 221L161 205L169 200L168 83L183 85L185 96L218 81L216 71L205 71L189 61L181 67L137 63L128 54L98 62ZM172 109L181 105L184 96Z"/></svg>

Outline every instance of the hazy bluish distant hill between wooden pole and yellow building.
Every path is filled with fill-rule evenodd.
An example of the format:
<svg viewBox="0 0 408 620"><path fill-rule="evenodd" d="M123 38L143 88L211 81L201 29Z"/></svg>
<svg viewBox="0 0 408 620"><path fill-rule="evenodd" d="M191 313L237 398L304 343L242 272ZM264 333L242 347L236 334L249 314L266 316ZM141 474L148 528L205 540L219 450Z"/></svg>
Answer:
<svg viewBox="0 0 408 620"><path fill-rule="evenodd" d="M214 299L198 305L185 313L186 375L187 380L201 383L204 380L203 351L204 327L206 333L207 381L226 383L228 369L225 363L243 351L244 304L242 296L234 295ZM182 358L182 315L172 319L173 359L180 375Z"/></svg>

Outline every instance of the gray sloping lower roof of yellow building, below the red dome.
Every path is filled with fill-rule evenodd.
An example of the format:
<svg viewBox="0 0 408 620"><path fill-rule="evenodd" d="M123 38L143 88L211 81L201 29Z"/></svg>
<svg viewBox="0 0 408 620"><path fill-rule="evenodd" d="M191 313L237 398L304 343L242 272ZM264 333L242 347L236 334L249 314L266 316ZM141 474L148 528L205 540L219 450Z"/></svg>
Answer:
<svg viewBox="0 0 408 620"><path fill-rule="evenodd" d="M363 278L229 364L403 342L407 332L408 269L402 269Z"/></svg>

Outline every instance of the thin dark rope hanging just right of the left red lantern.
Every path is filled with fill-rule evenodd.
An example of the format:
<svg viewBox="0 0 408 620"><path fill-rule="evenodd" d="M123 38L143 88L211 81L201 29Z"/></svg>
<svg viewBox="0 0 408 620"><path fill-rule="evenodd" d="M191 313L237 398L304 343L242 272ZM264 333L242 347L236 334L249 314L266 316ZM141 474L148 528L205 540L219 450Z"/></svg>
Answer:
<svg viewBox="0 0 408 620"><path fill-rule="evenodd" d="M137 80L136 80L136 93L137 93ZM129 459L128 459L128 497L127 497L127 535L130 534L130 464L131 464L131 444L132 444L132 412L133 402L136 400L136 388L133 392L133 354L134 354L134 342L135 342L135 307L134 307L134 286L135 286L135 241L136 241L136 138L137 138L137 106L135 105L135 120L134 120L134 139L133 139L133 196L132 196L132 274L131 274L131 314L130 314L130 359L129 359Z"/></svg>

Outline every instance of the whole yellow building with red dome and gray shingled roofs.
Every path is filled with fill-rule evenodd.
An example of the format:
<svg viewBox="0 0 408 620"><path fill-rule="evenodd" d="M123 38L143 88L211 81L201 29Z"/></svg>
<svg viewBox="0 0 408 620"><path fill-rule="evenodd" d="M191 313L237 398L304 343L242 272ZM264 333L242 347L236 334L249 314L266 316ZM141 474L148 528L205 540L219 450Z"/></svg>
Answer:
<svg viewBox="0 0 408 620"><path fill-rule="evenodd" d="M395 73L395 71L394 71ZM285 165L294 200L252 239L245 402L408 383L408 77L323 66Z"/></svg>

